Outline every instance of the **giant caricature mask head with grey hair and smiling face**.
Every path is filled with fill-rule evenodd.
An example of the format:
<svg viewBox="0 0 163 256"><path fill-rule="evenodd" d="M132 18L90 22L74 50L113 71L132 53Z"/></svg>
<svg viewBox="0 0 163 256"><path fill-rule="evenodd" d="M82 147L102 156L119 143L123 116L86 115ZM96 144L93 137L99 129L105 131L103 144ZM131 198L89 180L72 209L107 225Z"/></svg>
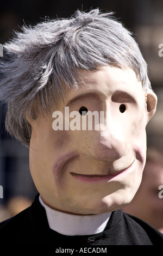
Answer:
<svg viewBox="0 0 163 256"><path fill-rule="evenodd" d="M23 108L27 119L20 114L19 120L26 131L12 129L12 134L23 143L30 141L30 172L43 201L73 214L109 212L131 201L146 161L146 125L156 107L139 48L129 32L108 16L92 10L78 12L70 20L42 23L26 29L24 46L17 48L17 54L24 54L28 47L26 66L32 57L28 68L34 77L30 85L21 82L17 89L23 102L28 99ZM55 31L58 26L60 33ZM33 33L39 40L40 31L42 45L34 53L36 46L29 49L34 42L25 39ZM8 47L11 51L13 46ZM37 70L36 63L40 63ZM28 78L25 65L24 69L21 77L26 72ZM26 85L28 94L22 94ZM14 90L14 99L13 94ZM94 119L92 129L82 129L82 110L86 118L89 112L96 111L99 117L104 113L98 129ZM81 114L80 129L72 129L72 112ZM7 127L11 132L10 114ZM54 124L59 116L63 129L57 130ZM12 116L13 123L16 127Z"/></svg>

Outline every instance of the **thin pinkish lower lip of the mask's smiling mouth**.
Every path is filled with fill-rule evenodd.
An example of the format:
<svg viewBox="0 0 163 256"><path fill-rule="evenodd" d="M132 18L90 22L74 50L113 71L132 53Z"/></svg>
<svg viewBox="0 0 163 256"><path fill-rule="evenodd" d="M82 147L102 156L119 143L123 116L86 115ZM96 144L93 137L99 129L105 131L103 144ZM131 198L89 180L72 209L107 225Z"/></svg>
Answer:
<svg viewBox="0 0 163 256"><path fill-rule="evenodd" d="M134 160L135 161L135 160ZM130 164L129 167L122 169L118 172L115 172L114 174L107 174L107 175L98 175L98 174L78 174L78 173L73 173L70 172L70 175L73 176L74 178L77 178L82 181L100 181L100 180L111 180L117 175L120 175L123 172L126 172L133 166L134 161Z"/></svg>

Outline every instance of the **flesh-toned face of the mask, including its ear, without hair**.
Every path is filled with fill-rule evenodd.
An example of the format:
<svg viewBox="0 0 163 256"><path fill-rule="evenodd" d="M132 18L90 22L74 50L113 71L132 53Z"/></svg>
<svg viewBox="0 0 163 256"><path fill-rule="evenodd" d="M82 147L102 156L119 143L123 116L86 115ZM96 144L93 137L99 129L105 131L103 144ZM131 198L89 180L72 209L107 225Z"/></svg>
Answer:
<svg viewBox="0 0 163 256"><path fill-rule="evenodd" d="M29 120L30 172L51 208L99 214L123 208L140 185L146 125L155 112L156 96L150 89L143 91L131 69L107 66L81 71L81 81L79 89L68 91L51 115ZM63 129L54 129L55 111L62 113ZM81 129L74 129L73 111L81 117ZM98 117L104 114L103 121L99 119L98 125L93 116L92 129L84 125L82 129L86 120L82 118L88 119L94 111Z"/></svg>

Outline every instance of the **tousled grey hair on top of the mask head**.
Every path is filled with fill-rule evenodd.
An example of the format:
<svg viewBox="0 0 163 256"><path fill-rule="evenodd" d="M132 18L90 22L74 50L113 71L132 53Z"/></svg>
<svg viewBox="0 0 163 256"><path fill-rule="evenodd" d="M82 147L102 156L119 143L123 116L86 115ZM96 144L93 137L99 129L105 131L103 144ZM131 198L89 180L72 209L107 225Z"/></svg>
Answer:
<svg viewBox="0 0 163 256"><path fill-rule="evenodd" d="M79 87L81 69L131 68L143 90L151 88L139 46L112 14L78 10L70 19L23 26L4 45L9 61L0 65L0 100L7 103L6 127L12 136L29 146L27 109L31 119L49 114L67 89Z"/></svg>

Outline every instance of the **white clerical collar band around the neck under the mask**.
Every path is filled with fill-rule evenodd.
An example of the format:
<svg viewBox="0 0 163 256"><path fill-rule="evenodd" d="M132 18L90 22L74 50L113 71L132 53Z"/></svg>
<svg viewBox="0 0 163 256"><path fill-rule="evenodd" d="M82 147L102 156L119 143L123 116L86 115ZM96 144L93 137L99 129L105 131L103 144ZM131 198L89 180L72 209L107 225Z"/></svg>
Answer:
<svg viewBox="0 0 163 256"><path fill-rule="evenodd" d="M73 215L57 211L46 205L39 196L41 205L46 210L49 227L62 235L94 235L102 232L111 212L98 215Z"/></svg>

